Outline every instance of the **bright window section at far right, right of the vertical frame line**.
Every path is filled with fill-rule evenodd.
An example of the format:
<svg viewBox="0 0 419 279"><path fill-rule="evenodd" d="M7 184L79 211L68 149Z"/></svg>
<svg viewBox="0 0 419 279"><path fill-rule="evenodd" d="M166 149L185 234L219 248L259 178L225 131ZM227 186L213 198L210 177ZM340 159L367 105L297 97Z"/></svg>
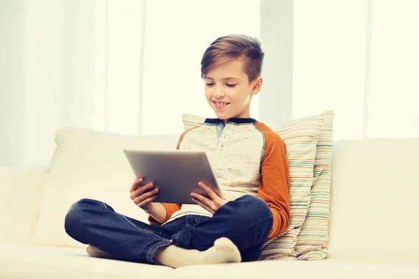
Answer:
<svg viewBox="0 0 419 279"><path fill-rule="evenodd" d="M369 137L419 137L419 1L372 2Z"/></svg>

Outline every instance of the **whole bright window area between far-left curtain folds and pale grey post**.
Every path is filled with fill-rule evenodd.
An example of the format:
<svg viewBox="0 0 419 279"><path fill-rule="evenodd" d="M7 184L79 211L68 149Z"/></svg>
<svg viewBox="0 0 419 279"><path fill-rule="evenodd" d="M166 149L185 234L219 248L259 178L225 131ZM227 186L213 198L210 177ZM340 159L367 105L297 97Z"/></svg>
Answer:
<svg viewBox="0 0 419 279"><path fill-rule="evenodd" d="M219 36L259 36L260 1L243 3L96 0L92 128L182 133L182 113L214 116L204 96L200 59ZM251 115L257 118L258 110L256 97Z"/></svg>

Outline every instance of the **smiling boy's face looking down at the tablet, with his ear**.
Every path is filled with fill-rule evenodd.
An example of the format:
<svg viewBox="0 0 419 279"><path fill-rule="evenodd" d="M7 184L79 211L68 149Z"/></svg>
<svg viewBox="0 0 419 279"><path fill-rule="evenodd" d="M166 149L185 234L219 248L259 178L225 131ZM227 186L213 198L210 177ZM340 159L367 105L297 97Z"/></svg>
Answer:
<svg viewBox="0 0 419 279"><path fill-rule="evenodd" d="M205 74L205 97L216 117L224 123L233 117L249 118L251 97L262 86L262 77L249 82L244 63L244 59L235 59Z"/></svg>

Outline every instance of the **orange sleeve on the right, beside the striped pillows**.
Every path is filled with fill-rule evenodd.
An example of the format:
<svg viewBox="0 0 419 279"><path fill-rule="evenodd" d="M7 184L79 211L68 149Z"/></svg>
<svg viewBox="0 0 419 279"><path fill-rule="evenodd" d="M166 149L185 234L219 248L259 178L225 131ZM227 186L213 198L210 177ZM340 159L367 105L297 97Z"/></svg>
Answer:
<svg viewBox="0 0 419 279"><path fill-rule="evenodd" d="M286 145L277 133L267 126L256 126L265 133L265 153L260 166L262 180L258 197L263 199L272 211L274 223L268 239L284 234L291 218L290 172L286 158Z"/></svg>

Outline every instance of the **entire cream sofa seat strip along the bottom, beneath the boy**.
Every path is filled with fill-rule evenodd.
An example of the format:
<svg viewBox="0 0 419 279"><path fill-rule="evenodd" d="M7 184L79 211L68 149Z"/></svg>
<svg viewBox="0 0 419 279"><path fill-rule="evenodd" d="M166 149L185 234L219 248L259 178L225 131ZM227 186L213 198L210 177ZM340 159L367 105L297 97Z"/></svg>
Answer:
<svg viewBox="0 0 419 279"><path fill-rule="evenodd" d="M15 279L118 279L118 278L161 278L161 279L416 279L419 265L414 262L386 262L383 259L354 259L339 261L259 261L238 264L214 264L185 266L171 269L96 259L86 255L83 248L45 246L0 246L0 278Z"/></svg>

